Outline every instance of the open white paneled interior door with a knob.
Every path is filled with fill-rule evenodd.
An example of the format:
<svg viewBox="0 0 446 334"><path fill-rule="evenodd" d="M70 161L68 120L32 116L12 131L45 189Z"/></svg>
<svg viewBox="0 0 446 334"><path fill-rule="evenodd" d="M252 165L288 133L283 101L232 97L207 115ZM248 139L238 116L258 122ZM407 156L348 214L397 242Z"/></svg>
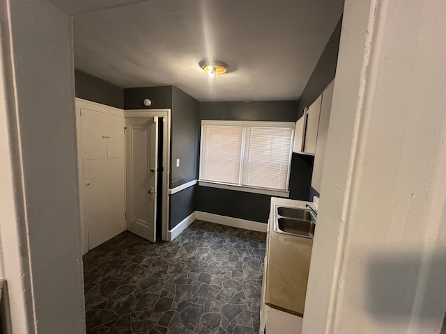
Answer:
<svg viewBox="0 0 446 334"><path fill-rule="evenodd" d="M125 118L127 230L156 241L157 117Z"/></svg>

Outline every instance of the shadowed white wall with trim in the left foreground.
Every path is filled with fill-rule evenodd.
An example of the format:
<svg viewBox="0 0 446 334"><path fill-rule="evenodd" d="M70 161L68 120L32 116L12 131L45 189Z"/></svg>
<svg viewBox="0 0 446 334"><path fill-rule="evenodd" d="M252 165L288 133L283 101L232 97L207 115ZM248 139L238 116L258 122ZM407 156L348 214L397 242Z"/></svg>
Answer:
<svg viewBox="0 0 446 334"><path fill-rule="evenodd" d="M44 0L0 7L0 275L13 331L84 333L71 20Z"/></svg>

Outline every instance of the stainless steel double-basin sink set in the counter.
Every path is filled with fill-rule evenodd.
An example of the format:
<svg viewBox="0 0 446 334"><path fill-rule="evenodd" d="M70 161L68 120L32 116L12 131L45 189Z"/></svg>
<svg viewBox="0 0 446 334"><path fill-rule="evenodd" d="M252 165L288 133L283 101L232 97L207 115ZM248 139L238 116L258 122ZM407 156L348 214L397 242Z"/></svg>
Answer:
<svg viewBox="0 0 446 334"><path fill-rule="evenodd" d="M311 210L276 207L275 232L313 239L315 227L316 215Z"/></svg>

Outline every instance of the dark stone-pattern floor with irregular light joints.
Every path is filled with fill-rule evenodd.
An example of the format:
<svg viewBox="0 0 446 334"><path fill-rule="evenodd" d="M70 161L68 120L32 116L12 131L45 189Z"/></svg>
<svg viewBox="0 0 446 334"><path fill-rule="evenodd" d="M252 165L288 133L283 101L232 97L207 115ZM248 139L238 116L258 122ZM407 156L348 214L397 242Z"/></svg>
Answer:
<svg viewBox="0 0 446 334"><path fill-rule="evenodd" d="M86 333L259 333L265 242L203 221L171 242L119 234L84 255Z"/></svg>

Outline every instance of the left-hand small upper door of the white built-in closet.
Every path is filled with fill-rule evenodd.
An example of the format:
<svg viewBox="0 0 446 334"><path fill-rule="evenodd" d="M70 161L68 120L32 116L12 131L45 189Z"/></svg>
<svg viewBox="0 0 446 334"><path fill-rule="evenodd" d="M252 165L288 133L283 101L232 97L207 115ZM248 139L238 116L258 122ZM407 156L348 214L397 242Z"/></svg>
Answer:
<svg viewBox="0 0 446 334"><path fill-rule="evenodd" d="M98 111L81 109L84 159L105 159L107 157L104 115Z"/></svg>

